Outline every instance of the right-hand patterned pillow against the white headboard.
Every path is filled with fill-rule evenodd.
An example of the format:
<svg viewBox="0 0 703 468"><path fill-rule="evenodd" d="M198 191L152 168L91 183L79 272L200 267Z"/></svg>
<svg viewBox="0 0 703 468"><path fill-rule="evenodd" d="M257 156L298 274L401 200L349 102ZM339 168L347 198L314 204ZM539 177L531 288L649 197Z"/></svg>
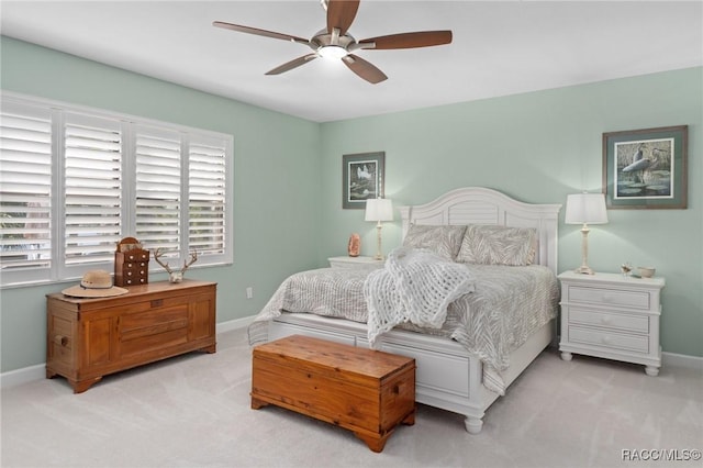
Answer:
<svg viewBox="0 0 703 468"><path fill-rule="evenodd" d="M537 230L470 224L457 261L481 265L532 265L537 250Z"/></svg>

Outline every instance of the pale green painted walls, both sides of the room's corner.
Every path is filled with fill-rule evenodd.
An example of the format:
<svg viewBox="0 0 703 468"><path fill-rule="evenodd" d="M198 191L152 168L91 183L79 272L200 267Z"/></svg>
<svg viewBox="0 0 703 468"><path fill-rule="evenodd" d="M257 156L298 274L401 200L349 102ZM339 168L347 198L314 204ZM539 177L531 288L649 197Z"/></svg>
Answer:
<svg viewBox="0 0 703 468"><path fill-rule="evenodd" d="M234 135L234 265L189 271L219 282L219 322L257 313L286 276L344 255L353 232L375 253L372 223L342 209L344 154L384 151L395 205L465 186L563 203L600 190L603 132L688 124L689 209L611 210L591 231L589 264L656 266L665 352L703 356L703 68L317 124L8 37L0 47L3 90ZM400 243L399 221L383 239L386 252ZM579 264L579 226L561 223L559 269ZM1 291L2 372L44 363L44 296L66 286Z"/></svg>

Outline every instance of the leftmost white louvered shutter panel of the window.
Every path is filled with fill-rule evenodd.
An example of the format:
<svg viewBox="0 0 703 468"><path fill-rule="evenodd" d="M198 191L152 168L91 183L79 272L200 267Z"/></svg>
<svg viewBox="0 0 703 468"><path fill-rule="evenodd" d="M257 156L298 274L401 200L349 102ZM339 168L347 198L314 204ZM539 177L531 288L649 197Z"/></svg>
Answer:
<svg viewBox="0 0 703 468"><path fill-rule="evenodd" d="M0 112L0 267L52 260L52 112L7 103Z"/></svg>

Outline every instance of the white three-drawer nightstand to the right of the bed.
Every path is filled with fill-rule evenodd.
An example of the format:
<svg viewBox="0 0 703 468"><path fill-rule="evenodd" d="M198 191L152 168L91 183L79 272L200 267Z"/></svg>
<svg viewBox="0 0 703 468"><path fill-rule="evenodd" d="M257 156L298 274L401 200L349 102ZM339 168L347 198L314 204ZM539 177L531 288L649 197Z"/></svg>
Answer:
<svg viewBox="0 0 703 468"><path fill-rule="evenodd" d="M576 353L643 364L648 376L659 374L663 278L566 271L559 280L563 360Z"/></svg>

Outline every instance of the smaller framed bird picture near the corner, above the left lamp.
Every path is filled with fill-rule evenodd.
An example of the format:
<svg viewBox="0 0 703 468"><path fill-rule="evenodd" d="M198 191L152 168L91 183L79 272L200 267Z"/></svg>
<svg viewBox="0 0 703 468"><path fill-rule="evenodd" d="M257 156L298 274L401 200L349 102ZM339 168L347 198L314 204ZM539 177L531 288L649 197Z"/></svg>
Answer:
<svg viewBox="0 0 703 468"><path fill-rule="evenodd" d="M366 200L383 197L386 153L344 155L342 208L365 209Z"/></svg>

